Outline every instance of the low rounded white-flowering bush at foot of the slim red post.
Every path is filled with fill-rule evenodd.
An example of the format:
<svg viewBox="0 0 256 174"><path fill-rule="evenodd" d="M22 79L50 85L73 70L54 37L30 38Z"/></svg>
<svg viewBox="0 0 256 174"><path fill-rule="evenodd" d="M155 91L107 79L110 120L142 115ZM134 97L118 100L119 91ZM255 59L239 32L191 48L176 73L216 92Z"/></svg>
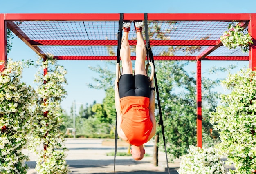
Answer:
<svg viewBox="0 0 256 174"><path fill-rule="evenodd" d="M188 154L180 157L179 174L225 174L224 161L213 147L189 146Z"/></svg>

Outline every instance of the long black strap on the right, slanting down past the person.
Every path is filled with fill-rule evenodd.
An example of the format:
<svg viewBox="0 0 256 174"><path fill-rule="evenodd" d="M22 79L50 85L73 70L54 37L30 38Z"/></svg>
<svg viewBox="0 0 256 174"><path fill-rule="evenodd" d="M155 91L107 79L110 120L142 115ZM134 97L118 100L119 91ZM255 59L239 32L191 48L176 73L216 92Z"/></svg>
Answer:
<svg viewBox="0 0 256 174"><path fill-rule="evenodd" d="M144 26L145 26L145 37L146 37L146 49L147 49L148 63L149 63L149 61L151 61L154 65L153 68L155 68L153 52L152 52L152 49L150 48L150 43L149 43L148 14L147 13L144 13ZM155 89L156 89L156 92L157 92L157 101L158 101L157 103L158 103L158 108L159 108L159 117L160 117L159 122L160 122L161 127L162 127L162 135L163 135L163 141L164 141L164 151L165 151L165 156L166 156L166 164L167 164L168 174L170 174L170 169L169 169L169 164L168 164L168 156L167 156L167 150L166 150L166 142L165 142L165 136L164 136L164 123L163 123L163 117L162 117L162 109L161 109L159 90L158 90L158 85L157 85L156 72L154 73L154 78L155 78Z"/></svg>

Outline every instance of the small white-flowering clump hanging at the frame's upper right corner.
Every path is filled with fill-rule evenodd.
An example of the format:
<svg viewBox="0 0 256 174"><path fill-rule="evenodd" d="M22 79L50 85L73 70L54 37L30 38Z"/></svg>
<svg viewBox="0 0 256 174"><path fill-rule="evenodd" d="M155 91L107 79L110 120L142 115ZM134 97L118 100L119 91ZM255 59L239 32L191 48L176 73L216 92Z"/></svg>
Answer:
<svg viewBox="0 0 256 174"><path fill-rule="evenodd" d="M229 24L228 29L229 31L225 31L223 36L220 36L222 44L229 49L240 46L243 52L248 52L250 44L253 43L248 29L241 27L240 23Z"/></svg>

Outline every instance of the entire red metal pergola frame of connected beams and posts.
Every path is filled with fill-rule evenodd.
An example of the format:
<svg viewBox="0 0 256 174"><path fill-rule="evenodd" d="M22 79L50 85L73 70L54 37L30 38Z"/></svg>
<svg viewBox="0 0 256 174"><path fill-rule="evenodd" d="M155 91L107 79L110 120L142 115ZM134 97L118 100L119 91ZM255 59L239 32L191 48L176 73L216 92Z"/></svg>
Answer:
<svg viewBox="0 0 256 174"><path fill-rule="evenodd" d="M6 62L6 27L11 29L23 42L25 42L38 55L45 56L40 49L42 46L116 46L117 40L31 40L15 21L119 21L119 13L40 13L40 14L0 14L0 60ZM124 20L144 20L144 13L124 13ZM202 60L240 60L248 61L250 68L256 70L256 13L148 13L148 21L239 21L245 22L251 33L254 44L249 49L249 56L223 56L211 53L222 47L217 40L150 40L150 45L158 46L209 46L198 55L192 56L159 56L155 60L194 60L197 62L197 140L198 147L202 147L202 94L201 94L201 61ZM208 31L208 30L207 30ZM136 45L135 40L130 40L130 45ZM58 60L116 60L116 56L91 56L91 55L54 55ZM135 60L135 56L131 56ZM3 66L2 66L3 67ZM0 67L1 68L1 67Z"/></svg>

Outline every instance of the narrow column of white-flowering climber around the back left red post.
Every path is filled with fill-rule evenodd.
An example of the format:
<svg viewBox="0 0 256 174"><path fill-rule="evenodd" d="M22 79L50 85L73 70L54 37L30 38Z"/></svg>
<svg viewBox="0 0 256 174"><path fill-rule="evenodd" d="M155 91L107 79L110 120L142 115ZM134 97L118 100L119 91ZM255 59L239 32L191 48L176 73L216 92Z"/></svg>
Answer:
<svg viewBox="0 0 256 174"><path fill-rule="evenodd" d="M53 56L38 58L36 62L40 67L35 75L38 84L37 108L35 110L36 123L34 123L33 138L30 149L38 154L36 170L39 174L65 174L68 165L65 161L66 148L63 145L64 136L59 127L62 125L61 101L66 95L64 89L67 80L67 71L56 63ZM47 70L47 74L43 74ZM38 148L40 147L41 148Z"/></svg>

